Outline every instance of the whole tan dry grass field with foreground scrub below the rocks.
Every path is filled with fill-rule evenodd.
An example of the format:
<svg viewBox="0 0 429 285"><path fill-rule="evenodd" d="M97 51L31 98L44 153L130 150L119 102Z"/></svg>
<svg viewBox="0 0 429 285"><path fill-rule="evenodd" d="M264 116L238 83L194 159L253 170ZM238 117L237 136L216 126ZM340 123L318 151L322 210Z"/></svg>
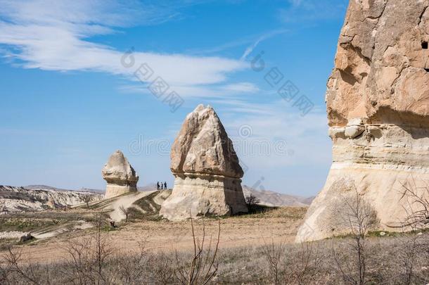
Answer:
<svg viewBox="0 0 429 285"><path fill-rule="evenodd" d="M347 236L296 244L293 240L305 211L306 208L285 207L185 222L131 218L115 228L94 210L37 213L33 214L34 220L55 217L61 221L58 224L67 224L84 214L84 219L95 227L15 243L13 247L5 245L0 253L0 284L429 281L429 235L425 232L371 233L364 239ZM18 215L15 223L19 219L28 222L27 215ZM48 223L47 227L52 225Z"/></svg>

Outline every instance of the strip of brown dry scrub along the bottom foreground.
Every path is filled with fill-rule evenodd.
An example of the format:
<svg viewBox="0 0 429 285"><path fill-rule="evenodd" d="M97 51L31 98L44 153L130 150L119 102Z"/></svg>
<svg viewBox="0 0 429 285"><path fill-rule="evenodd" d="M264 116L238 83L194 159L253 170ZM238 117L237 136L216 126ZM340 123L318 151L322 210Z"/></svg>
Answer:
<svg viewBox="0 0 429 285"><path fill-rule="evenodd" d="M202 231L203 229L199 229ZM222 229L221 229L222 233ZM416 238L416 239L414 239ZM210 240L210 236L206 236ZM19 251L2 255L0 284L426 284L429 235L372 237L360 282L352 238L217 251L196 240L195 251L117 252L102 231L70 244L63 262L28 263ZM211 244L211 247L210 247ZM413 254L417 253L417 254Z"/></svg>

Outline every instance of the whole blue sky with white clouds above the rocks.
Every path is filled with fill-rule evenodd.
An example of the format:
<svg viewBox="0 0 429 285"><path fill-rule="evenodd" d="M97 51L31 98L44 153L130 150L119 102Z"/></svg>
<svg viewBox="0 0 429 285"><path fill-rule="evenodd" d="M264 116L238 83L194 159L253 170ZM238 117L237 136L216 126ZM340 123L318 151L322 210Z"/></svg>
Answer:
<svg viewBox="0 0 429 285"><path fill-rule="evenodd" d="M316 194L331 164L324 94L347 2L0 0L0 184L103 189L120 149L140 185L171 185L169 146L203 103L233 139L243 184ZM152 77L137 79L141 64ZM271 86L273 68L283 79ZM159 99L156 77L169 86ZM291 101L277 93L285 82L299 89ZM184 101L174 112L171 91ZM303 95L306 115L294 106Z"/></svg>

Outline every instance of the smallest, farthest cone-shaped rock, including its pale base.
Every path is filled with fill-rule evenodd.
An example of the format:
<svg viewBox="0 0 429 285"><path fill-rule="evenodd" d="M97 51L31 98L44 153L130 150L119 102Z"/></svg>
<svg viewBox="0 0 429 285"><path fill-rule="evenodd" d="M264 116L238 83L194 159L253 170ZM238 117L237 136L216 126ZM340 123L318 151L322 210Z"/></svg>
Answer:
<svg viewBox="0 0 429 285"><path fill-rule="evenodd" d="M110 156L101 173L103 179L108 182L104 198L112 198L137 191L139 176L136 175L136 171L121 151L116 151Z"/></svg>

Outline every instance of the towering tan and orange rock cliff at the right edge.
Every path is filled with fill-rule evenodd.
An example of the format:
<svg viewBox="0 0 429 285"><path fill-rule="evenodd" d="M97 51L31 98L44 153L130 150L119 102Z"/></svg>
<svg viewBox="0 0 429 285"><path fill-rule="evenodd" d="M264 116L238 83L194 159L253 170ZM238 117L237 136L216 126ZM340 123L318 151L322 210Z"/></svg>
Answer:
<svg viewBox="0 0 429 285"><path fill-rule="evenodd" d="M350 1L326 94L333 165L297 241L347 232L338 213L353 189L375 211L376 227L395 231L412 207L403 184L428 181L428 6Z"/></svg>

